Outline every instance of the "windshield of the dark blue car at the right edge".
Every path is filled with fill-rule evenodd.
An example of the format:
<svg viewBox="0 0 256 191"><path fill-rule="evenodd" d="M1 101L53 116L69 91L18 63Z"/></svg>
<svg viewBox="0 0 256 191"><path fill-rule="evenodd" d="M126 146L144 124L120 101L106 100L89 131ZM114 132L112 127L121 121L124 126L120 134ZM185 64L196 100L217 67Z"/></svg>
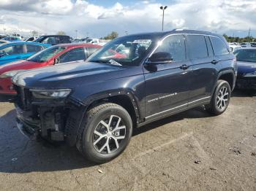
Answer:
<svg viewBox="0 0 256 191"><path fill-rule="evenodd" d="M237 61L255 62L256 63L256 49L240 49L234 52Z"/></svg>

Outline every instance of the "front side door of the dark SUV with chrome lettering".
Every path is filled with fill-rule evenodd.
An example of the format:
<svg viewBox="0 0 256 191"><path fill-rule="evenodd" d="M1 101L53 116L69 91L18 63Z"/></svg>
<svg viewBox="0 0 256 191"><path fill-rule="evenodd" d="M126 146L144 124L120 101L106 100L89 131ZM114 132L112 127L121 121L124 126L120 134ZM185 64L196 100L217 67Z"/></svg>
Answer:
<svg viewBox="0 0 256 191"><path fill-rule="evenodd" d="M156 52L170 53L173 61L144 64L146 120L187 108L189 98L192 69L187 61L184 36L168 36L154 51ZM151 68L154 68L154 71Z"/></svg>

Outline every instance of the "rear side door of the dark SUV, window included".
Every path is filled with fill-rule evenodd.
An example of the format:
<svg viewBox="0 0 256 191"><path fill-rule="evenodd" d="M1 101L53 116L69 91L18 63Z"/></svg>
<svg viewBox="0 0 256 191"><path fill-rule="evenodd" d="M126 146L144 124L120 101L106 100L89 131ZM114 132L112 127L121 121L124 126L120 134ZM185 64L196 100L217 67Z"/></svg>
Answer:
<svg viewBox="0 0 256 191"><path fill-rule="evenodd" d="M189 92L189 106L211 99L218 74L218 65L214 63L214 52L208 36L187 34L187 52L192 63L192 78Z"/></svg>

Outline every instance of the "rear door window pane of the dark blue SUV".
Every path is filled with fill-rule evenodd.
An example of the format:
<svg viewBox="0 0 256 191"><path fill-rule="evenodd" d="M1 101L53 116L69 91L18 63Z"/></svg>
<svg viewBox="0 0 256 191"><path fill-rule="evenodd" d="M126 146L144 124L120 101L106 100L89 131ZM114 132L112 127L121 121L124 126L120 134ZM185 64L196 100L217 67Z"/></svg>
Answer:
<svg viewBox="0 0 256 191"><path fill-rule="evenodd" d="M187 35L187 50L190 59L207 58L206 39L203 35Z"/></svg>

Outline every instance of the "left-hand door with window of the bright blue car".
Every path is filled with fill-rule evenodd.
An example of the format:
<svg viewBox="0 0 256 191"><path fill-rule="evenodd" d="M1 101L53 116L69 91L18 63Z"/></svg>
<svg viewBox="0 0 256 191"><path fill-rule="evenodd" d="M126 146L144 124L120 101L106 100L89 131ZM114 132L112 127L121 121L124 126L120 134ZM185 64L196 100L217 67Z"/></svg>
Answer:
<svg viewBox="0 0 256 191"><path fill-rule="evenodd" d="M12 45L4 47L0 50L0 65L10 63L12 61L19 61L24 58L25 47L23 44Z"/></svg>

